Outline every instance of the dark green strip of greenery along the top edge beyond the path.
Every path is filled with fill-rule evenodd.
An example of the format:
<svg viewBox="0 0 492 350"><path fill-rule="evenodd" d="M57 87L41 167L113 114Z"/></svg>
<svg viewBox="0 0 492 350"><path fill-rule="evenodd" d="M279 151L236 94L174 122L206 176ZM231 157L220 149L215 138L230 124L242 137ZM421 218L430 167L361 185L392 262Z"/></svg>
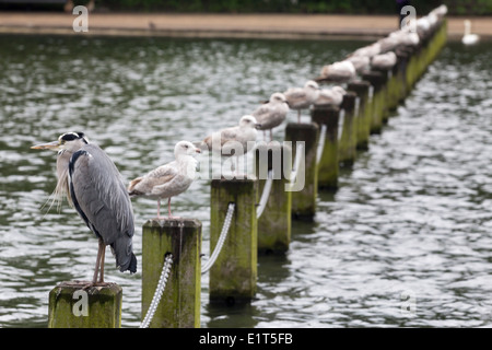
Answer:
<svg viewBox="0 0 492 350"><path fill-rule="evenodd" d="M77 1L74 1L77 2ZM429 13L445 3L449 14L492 14L492 0L414 0L417 13ZM97 8L113 11L168 11L210 13L347 13L389 14L395 0L96 0Z"/></svg>

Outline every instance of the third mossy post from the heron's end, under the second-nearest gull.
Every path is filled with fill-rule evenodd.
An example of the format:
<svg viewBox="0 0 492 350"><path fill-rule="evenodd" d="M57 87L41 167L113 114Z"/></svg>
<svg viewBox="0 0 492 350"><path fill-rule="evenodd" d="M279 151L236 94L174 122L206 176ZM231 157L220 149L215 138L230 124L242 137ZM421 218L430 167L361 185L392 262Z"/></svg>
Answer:
<svg viewBox="0 0 492 350"><path fill-rule="evenodd" d="M256 178L213 179L210 194L210 249L213 252L230 202L235 203L231 228L210 269L211 303L245 303L256 293L258 235Z"/></svg>

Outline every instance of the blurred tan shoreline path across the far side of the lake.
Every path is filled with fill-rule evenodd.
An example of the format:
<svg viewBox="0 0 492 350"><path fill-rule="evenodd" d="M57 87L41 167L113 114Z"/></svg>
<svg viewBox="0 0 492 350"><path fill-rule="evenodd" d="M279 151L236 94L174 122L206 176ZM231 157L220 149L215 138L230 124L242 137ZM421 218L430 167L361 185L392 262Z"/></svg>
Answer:
<svg viewBox="0 0 492 350"><path fill-rule="evenodd" d="M62 11L0 11L0 33L372 40L395 31L398 24L396 15L387 14L94 12L89 15L89 32L78 33L72 27L75 19L75 14ZM465 19L471 20L473 33L492 39L492 16L450 16L449 40L462 37Z"/></svg>

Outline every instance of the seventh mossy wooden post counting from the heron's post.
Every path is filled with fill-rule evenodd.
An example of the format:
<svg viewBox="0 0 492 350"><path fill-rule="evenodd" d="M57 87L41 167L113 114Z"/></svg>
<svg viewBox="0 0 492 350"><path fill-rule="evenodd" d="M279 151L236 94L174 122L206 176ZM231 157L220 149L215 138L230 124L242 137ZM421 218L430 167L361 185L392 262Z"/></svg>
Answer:
<svg viewBox="0 0 492 350"><path fill-rule="evenodd" d="M343 117L342 135L338 143L338 161L344 166L351 166L355 161L358 145L358 125L355 119L355 97L353 92L343 95L341 107Z"/></svg>

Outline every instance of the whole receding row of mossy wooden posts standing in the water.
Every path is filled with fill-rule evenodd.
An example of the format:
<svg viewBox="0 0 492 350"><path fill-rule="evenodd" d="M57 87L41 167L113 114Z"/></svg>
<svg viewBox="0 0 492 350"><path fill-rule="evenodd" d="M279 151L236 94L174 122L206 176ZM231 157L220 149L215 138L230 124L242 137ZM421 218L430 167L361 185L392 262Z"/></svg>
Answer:
<svg viewBox="0 0 492 350"><path fill-rule="evenodd" d="M235 203L235 210L222 253L209 272L211 303L232 305L255 298L258 254L288 252L292 220L313 220L317 191L338 187L339 167L350 166L358 150L368 148L370 136L382 132L390 112L410 93L445 43L444 19L418 47L399 51L397 63L390 70L368 71L361 80L349 82L340 107L313 108L312 122L286 125L285 140L292 144L304 142L301 164L305 184L302 190L285 190L297 148L280 143L258 147L254 154L255 176L212 180L211 252L219 240L230 202ZM340 128L341 109L344 115ZM326 126L326 138L317 160L323 125ZM274 166L278 158L280 166ZM276 173L270 196L261 217L257 218L256 208L267 177L259 172L272 168ZM196 219L149 220L143 225L142 318L156 289L164 257L173 254L172 272L150 327L200 327L201 229L201 222ZM121 288L112 284L90 290L87 316L84 317L77 308L81 300L73 296L77 290L77 283L63 282L50 291L48 327L120 327Z"/></svg>

